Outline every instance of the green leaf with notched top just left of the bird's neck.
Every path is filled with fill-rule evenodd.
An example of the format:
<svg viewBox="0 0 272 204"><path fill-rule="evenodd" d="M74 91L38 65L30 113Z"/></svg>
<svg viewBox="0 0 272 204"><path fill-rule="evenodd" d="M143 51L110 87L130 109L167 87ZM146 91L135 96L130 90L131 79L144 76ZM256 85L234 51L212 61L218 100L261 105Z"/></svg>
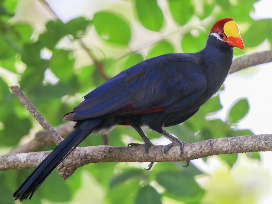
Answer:
<svg viewBox="0 0 272 204"><path fill-rule="evenodd" d="M202 50L205 47L207 34L199 31L198 36L187 33L181 40L181 47L184 53L193 53Z"/></svg>

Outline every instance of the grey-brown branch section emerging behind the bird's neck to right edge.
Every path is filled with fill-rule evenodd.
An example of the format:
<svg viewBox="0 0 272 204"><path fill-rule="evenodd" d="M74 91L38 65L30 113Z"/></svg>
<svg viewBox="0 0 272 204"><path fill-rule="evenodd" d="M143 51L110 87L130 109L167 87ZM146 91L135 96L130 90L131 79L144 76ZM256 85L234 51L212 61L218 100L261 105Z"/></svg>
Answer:
<svg viewBox="0 0 272 204"><path fill-rule="evenodd" d="M231 74L251 66L269 62L272 62L272 50L244 55L232 61L232 66L229 73Z"/></svg>

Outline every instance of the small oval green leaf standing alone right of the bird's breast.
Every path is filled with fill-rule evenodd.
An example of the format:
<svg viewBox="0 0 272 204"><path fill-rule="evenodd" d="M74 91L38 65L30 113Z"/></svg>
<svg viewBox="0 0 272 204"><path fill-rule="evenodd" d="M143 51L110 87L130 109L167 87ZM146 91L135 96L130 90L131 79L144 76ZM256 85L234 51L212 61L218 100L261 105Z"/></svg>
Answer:
<svg viewBox="0 0 272 204"><path fill-rule="evenodd" d="M248 99L238 100L230 109L227 121L230 123L238 122L248 113L248 109Z"/></svg>

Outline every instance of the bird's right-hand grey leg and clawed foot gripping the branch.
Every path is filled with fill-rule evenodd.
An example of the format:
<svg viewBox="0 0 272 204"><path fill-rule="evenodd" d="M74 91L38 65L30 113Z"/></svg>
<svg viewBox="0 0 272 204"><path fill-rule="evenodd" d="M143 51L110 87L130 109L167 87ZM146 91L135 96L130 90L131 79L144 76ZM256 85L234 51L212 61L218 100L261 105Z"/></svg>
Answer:
<svg viewBox="0 0 272 204"><path fill-rule="evenodd" d="M165 154L168 153L168 151L170 150L171 147L173 147L175 145L179 145L180 146L180 156L182 156L184 144L188 144L188 143L180 141L178 138L176 138L173 135L169 134L168 132L166 132L162 128L160 130L154 130L154 131L160 133L162 136L166 137L168 140L170 140L172 142L170 144L165 145L165 147L164 147L164 153ZM189 166L190 160L188 160L186 162L187 162L187 164L184 167Z"/></svg>

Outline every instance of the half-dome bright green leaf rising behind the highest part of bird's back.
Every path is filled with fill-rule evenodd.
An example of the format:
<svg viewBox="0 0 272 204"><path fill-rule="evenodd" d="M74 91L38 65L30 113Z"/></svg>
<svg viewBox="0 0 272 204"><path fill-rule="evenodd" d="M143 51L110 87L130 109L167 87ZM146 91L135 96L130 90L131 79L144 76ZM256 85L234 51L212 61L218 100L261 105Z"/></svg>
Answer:
<svg viewBox="0 0 272 204"><path fill-rule="evenodd" d="M157 57L166 53L174 53L175 50L171 43L167 40L158 42L147 54L147 59Z"/></svg>

